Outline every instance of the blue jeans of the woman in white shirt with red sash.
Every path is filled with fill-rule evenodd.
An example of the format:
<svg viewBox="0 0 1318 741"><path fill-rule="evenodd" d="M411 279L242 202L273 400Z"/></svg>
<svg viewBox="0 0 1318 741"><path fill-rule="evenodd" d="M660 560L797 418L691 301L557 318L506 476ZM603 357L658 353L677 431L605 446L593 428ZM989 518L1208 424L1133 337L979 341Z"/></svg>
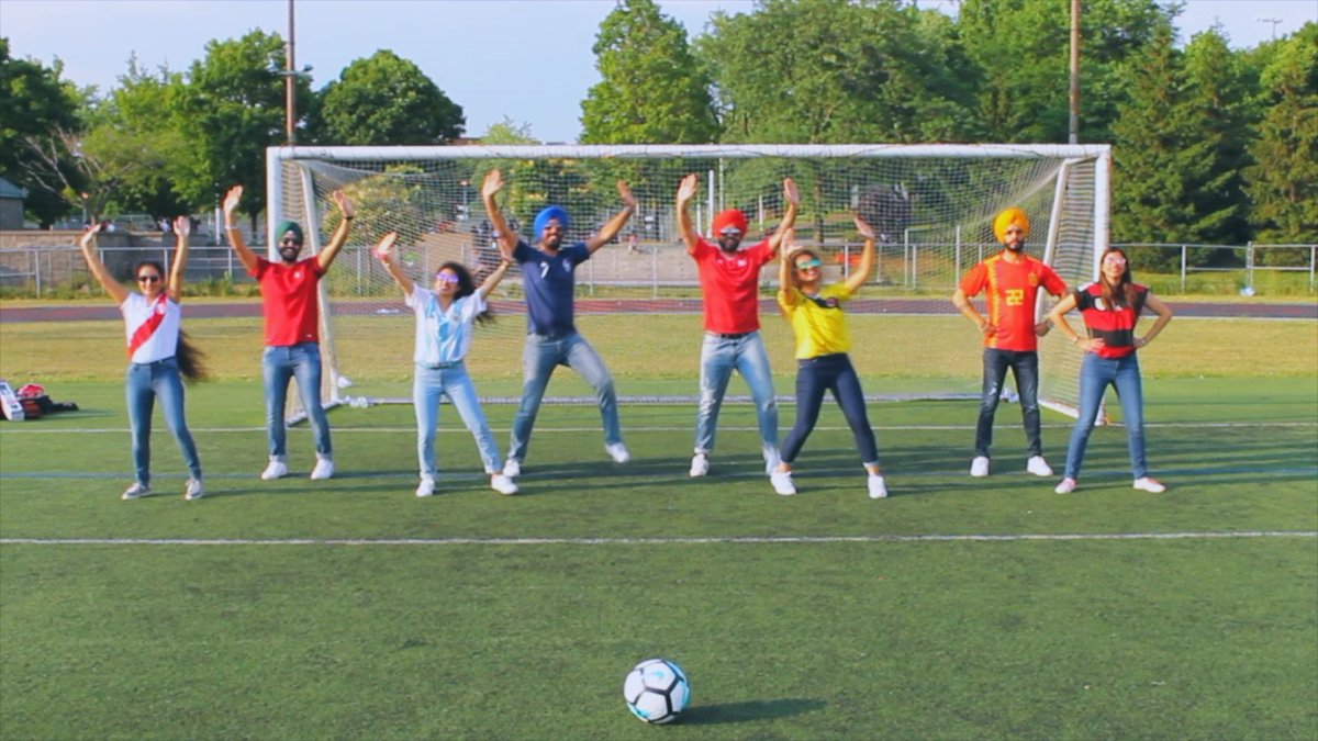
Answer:
<svg viewBox="0 0 1318 741"><path fill-rule="evenodd" d="M133 468L137 483L148 487L152 483L152 409L161 400L161 413L169 431L174 434L183 463L192 479L202 479L202 460L196 456L196 444L187 430L183 418L183 378L178 372L178 360L166 357L156 363L133 363L125 374L128 398L128 423L133 431Z"/></svg>

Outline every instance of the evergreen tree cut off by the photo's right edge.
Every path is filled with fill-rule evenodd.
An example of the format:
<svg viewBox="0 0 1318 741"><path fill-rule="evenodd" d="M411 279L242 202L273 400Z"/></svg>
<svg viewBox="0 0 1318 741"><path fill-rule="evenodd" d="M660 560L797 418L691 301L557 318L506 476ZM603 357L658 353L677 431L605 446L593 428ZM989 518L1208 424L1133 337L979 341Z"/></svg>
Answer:
<svg viewBox="0 0 1318 741"><path fill-rule="evenodd" d="M1267 112L1246 171L1255 239L1307 243L1318 235L1318 24L1277 42L1263 70ZM1294 262L1298 254L1275 261ZM1307 256L1304 256L1307 258Z"/></svg>

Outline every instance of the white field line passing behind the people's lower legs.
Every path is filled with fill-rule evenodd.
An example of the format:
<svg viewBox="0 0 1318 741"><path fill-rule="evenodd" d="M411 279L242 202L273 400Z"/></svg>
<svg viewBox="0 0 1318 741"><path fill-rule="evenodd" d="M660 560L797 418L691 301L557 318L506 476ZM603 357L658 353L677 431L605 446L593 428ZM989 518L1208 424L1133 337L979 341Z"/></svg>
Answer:
<svg viewBox="0 0 1318 741"><path fill-rule="evenodd" d="M394 434L394 432L415 432L416 431L415 426L409 426L409 427L348 427L348 426L341 426L341 425L331 425L331 426L333 427L333 432L336 435L339 432L345 432L345 434L352 434L352 435L372 435L372 434L380 434L380 432ZM1069 430L1073 426L1074 426L1074 423L1072 423L1072 422L1044 423L1044 427L1057 429L1057 430L1062 430L1062 429ZM1115 426L1120 427L1122 425L1116 423ZM1218 429L1218 430L1230 430L1230 429L1267 429L1267 427L1301 429L1301 427L1318 427L1318 421L1314 421L1314 422L1145 422L1144 426L1145 427L1162 427L1162 429L1194 427L1194 429ZM880 431L880 432L884 431L884 430L894 431L894 432L899 432L899 431L904 431L904 430L905 431L924 430L924 431L954 431L954 432L965 432L966 430L974 430L975 429L974 425L871 425L871 427L875 431ZM598 426L588 426L588 427L555 427L555 426L551 426L551 425L536 425L535 429L536 429L536 431L552 431L552 432L597 432L600 430ZM720 430L731 431L731 432L757 432L757 431L759 431L759 427L750 427L750 426L737 427L737 426L731 426L731 425L720 425L718 429ZM240 434L248 434L248 432L265 432L265 426L261 426L261 427L188 427L188 430L191 430L194 434L196 434L196 432L206 432L206 434L240 432ZM291 427L290 429L290 431L294 431L294 432L299 431L299 430L306 430L306 427ZM496 431L496 432L507 432L511 429L510 427L496 427L496 426L492 426L490 430ZM691 430L692 430L691 425L683 425L683 426L676 426L676 427L675 426L652 426L652 427L651 426L646 426L646 427L642 427L642 426L629 426L623 431L627 432L627 434L634 434L634 432L642 432L643 434L643 432L689 432ZM821 426L815 427L815 430L818 430L818 431L833 431L833 432L837 432L837 431L846 432L846 431L850 431L850 427L821 425ZM17 429L17 427L14 427L12 425L5 425L4 427L0 427L0 435L109 435L109 434L124 435L124 434L128 434L128 431L129 431L128 427L65 427L65 429L58 429L58 430L50 430L50 429L45 429L45 430L42 430L42 429ZM153 434L167 435L169 430L159 430L159 429L157 429L157 430L153 430L152 432ZM464 427L440 427L439 429L439 434L471 435L471 432L468 432L467 429L464 429Z"/></svg>

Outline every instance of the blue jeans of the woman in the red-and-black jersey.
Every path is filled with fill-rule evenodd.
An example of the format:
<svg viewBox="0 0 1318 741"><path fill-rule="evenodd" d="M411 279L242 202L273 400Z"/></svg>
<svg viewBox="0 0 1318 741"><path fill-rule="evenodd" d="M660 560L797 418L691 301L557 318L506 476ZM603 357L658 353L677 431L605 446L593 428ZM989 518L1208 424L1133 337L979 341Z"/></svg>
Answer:
<svg viewBox="0 0 1318 741"><path fill-rule="evenodd" d="M1089 434L1094 430L1098 406L1108 385L1116 389L1116 397L1122 402L1131 471L1136 479L1149 475L1148 460L1144 458L1144 388L1140 382L1139 359L1133 352L1115 360L1086 352L1079 367L1079 417L1075 418L1070 444L1066 446L1066 479L1079 479Z"/></svg>

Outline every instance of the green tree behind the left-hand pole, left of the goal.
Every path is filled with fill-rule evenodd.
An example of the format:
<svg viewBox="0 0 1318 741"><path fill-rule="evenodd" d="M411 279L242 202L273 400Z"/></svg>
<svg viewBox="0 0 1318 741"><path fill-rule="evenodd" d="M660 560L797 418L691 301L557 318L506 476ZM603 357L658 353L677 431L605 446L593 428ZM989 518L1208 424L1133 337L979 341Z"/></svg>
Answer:
<svg viewBox="0 0 1318 741"><path fill-rule="evenodd" d="M265 204L265 149L285 140L283 41L253 30L237 41L211 41L206 58L194 62L179 96L181 131L195 152L186 177L177 183L192 203L216 203L224 190L241 185L244 211ZM308 83L295 76L298 109L311 98Z"/></svg>

